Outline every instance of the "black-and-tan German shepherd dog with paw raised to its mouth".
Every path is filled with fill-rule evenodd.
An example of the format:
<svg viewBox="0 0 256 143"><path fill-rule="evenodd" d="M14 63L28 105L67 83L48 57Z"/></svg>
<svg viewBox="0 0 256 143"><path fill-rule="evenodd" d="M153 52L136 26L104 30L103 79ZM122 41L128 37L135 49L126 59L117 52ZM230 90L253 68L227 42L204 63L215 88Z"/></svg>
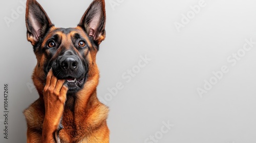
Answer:
<svg viewBox="0 0 256 143"><path fill-rule="evenodd" d="M94 0L76 28L56 28L36 2L26 8L39 99L25 111L27 142L109 142L109 109L99 102L96 53L105 39L105 3Z"/></svg>

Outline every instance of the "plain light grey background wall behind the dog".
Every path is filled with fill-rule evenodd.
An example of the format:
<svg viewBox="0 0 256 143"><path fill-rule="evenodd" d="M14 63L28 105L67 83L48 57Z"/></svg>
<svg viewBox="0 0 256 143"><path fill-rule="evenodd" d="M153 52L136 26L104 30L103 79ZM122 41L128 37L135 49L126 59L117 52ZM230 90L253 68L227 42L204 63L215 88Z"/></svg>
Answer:
<svg viewBox="0 0 256 143"><path fill-rule="evenodd" d="M77 25L92 1L38 2L56 27L68 28ZM113 2L118 4L114 8ZM199 1L105 3L106 39L97 55L98 97L105 100L111 93L108 88L118 82L123 85L106 102L110 142L150 142L146 141L150 135L158 138L151 142L256 142L256 44L236 65L227 61L243 49L245 39L256 41L255 1L205 0L206 6L180 32L175 21L181 23L182 14ZM36 59L26 39L25 11L10 27L4 20L20 7L19 0L0 1L0 142L26 142L22 111L38 98L30 86ZM145 55L151 61L126 82L122 75L137 69ZM209 81L223 65L228 73L200 97L197 88L204 88L204 80ZM8 140L3 137L4 83L10 86ZM174 126L161 136L163 122Z"/></svg>

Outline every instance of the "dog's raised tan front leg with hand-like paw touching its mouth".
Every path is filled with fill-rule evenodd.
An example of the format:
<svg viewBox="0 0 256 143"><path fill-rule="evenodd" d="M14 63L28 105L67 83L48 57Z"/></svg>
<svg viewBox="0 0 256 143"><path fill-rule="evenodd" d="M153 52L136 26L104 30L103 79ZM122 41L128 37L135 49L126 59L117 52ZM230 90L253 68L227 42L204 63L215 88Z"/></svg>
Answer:
<svg viewBox="0 0 256 143"><path fill-rule="evenodd" d="M58 132L61 129L61 117L63 114L68 87L65 80L57 79L49 71L44 88L45 118L42 124L42 142L59 142Z"/></svg>

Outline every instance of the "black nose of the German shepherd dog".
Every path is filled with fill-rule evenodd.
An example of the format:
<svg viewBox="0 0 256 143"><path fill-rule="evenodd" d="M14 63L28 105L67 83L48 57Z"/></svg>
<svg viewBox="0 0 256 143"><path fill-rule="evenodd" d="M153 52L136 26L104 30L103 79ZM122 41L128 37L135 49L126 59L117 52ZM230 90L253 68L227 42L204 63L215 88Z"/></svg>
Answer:
<svg viewBox="0 0 256 143"><path fill-rule="evenodd" d="M63 70L74 70L78 65L78 61L74 56L65 56L60 60L60 67Z"/></svg>

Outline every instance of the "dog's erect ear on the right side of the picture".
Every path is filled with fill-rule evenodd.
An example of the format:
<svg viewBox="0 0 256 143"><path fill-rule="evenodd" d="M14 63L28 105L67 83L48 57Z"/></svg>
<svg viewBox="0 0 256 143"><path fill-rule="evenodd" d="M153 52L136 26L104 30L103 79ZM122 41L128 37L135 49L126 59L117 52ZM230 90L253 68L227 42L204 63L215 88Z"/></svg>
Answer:
<svg viewBox="0 0 256 143"><path fill-rule="evenodd" d="M105 39L105 2L94 0L87 11L83 14L78 26L84 28L96 44Z"/></svg>

